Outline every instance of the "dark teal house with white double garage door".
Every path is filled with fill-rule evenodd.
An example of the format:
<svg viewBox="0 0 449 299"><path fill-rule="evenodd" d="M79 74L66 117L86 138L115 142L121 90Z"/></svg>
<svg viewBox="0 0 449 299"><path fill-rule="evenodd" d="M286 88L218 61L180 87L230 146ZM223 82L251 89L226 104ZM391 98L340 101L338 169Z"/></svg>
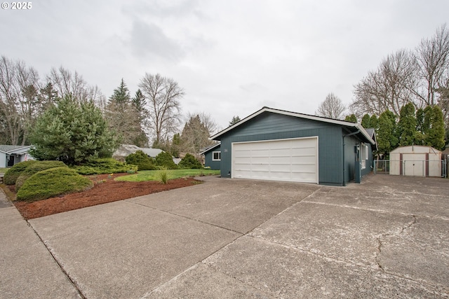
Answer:
<svg viewBox="0 0 449 299"><path fill-rule="evenodd" d="M264 107L213 135L223 177L345 186L371 172L375 140L358 123Z"/></svg>

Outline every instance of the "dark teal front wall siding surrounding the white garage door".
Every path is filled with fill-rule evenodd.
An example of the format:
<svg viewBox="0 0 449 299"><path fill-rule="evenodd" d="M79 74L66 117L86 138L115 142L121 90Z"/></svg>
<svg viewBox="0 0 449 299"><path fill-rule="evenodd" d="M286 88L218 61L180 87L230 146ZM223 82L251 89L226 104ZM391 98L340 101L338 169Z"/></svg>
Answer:
<svg viewBox="0 0 449 299"><path fill-rule="evenodd" d="M319 183L341 186L342 128L276 113L263 113L222 136L221 176L231 177L233 142L314 136L319 137Z"/></svg>

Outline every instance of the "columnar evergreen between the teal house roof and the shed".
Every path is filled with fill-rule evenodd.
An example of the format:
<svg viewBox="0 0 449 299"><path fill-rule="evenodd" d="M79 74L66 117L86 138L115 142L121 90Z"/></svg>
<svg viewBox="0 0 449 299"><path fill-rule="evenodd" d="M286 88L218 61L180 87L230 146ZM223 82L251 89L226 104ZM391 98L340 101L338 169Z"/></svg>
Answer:
<svg viewBox="0 0 449 299"><path fill-rule="evenodd" d="M377 121L377 151L386 157L398 145L396 137L396 116L387 110L380 114Z"/></svg>

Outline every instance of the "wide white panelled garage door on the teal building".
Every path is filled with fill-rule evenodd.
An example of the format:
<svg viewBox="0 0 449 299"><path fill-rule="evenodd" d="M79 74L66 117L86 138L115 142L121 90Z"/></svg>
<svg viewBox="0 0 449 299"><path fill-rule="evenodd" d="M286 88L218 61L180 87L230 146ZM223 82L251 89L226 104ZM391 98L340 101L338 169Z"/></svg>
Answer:
<svg viewBox="0 0 449 299"><path fill-rule="evenodd" d="M318 137L233 143L231 175L318 183Z"/></svg>

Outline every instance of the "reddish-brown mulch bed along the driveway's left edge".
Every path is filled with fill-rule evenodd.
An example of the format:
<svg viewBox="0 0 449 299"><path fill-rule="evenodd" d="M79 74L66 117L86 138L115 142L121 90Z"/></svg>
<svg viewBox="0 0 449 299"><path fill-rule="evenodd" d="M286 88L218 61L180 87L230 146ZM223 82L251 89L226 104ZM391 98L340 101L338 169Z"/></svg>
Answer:
<svg viewBox="0 0 449 299"><path fill-rule="evenodd" d="M94 183L93 188L79 193L70 193L59 197L51 197L37 202L17 202L15 207L20 211L23 218L32 219L48 216L63 211L72 211L83 207L91 207L97 204L126 200L127 198L147 195L151 193L172 190L192 186L200 183L194 178L172 179L163 184L158 181L114 181L117 176L128 174L100 174L88 176ZM14 188L14 186L12 186ZM10 188L11 189L11 188Z"/></svg>

